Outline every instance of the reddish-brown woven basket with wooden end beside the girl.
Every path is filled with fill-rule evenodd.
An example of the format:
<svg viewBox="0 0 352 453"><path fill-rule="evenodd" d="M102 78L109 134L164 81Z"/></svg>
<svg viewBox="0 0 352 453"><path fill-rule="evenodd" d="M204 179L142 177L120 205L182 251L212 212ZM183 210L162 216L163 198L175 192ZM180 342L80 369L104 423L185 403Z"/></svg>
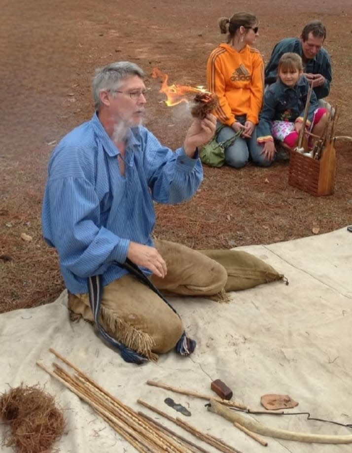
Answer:
<svg viewBox="0 0 352 453"><path fill-rule="evenodd" d="M316 197L331 195L335 188L336 151L330 142L319 160L290 151L288 184Z"/></svg>

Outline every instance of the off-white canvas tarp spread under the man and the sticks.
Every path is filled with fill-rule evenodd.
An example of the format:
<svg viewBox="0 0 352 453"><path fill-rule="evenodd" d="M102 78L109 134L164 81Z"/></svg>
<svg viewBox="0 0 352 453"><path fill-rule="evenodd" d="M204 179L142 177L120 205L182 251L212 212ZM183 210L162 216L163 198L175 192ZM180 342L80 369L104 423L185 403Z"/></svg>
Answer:
<svg viewBox="0 0 352 453"><path fill-rule="evenodd" d="M346 228L295 241L241 247L271 264L289 280L231 293L231 302L171 297L186 331L197 341L190 357L171 352L157 363L125 363L106 347L93 327L71 323L64 291L52 304L0 315L0 392L20 383L45 385L65 410L65 435L56 444L64 453L134 452L94 411L61 383L35 365L48 366L52 347L123 403L164 423L209 452L170 421L137 404L137 399L183 418L222 438L243 453L262 447L231 422L210 413L207 401L146 385L156 380L213 394L211 381L221 379L236 401L263 409L266 393L288 394L299 402L287 412L309 412L314 418L352 423L352 234ZM173 398L185 406L185 417L167 406ZM252 415L266 425L324 434L352 434L352 429L307 420L304 415ZM3 427L0 428L0 432ZM347 453L350 445L303 444L272 439L274 453ZM3 447L2 452L12 450Z"/></svg>

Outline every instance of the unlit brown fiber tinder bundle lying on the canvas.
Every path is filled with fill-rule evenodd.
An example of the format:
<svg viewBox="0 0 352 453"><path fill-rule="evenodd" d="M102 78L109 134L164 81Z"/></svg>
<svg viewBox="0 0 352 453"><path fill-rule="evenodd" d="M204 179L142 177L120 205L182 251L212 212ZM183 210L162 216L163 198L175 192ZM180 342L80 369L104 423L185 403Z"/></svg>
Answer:
<svg viewBox="0 0 352 453"><path fill-rule="evenodd" d="M0 418L7 427L2 445L17 453L49 453L61 437L65 420L54 398L38 385L21 384L2 393Z"/></svg>

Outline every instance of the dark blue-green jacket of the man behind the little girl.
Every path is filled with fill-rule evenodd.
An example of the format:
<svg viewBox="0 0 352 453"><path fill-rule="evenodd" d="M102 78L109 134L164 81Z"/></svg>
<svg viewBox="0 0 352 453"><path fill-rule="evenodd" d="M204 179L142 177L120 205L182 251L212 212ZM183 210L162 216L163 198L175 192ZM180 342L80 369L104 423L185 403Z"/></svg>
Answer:
<svg viewBox="0 0 352 453"><path fill-rule="evenodd" d="M270 85L276 81L279 60L285 52L294 52L302 57L303 52L300 39L285 38L276 44L271 54L269 63L265 67L264 80L266 84ZM328 96L330 91L330 82L332 80L332 70L329 54L324 48L321 48L314 58L306 62L304 72L323 75L325 77L324 84L319 87L315 87L314 92L317 95L317 99L322 99Z"/></svg>

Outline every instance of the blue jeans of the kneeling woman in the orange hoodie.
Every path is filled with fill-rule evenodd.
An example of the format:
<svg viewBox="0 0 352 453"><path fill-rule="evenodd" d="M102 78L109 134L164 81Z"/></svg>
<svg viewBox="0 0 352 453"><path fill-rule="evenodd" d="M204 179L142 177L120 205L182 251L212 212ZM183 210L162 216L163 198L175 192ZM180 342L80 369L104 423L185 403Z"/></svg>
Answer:
<svg viewBox="0 0 352 453"><path fill-rule="evenodd" d="M246 118L244 116L236 118L236 120L245 124ZM216 127L219 127L221 123L218 121ZM217 141L225 141L233 137L236 132L229 126L225 126L221 129L217 135ZM257 133L256 128L252 133L250 139L244 139L238 137L236 141L225 149L225 163L235 168L242 168L246 165L249 158L255 165L260 167L269 167L272 164L272 161L268 161L261 154L263 149L262 144L257 143Z"/></svg>

